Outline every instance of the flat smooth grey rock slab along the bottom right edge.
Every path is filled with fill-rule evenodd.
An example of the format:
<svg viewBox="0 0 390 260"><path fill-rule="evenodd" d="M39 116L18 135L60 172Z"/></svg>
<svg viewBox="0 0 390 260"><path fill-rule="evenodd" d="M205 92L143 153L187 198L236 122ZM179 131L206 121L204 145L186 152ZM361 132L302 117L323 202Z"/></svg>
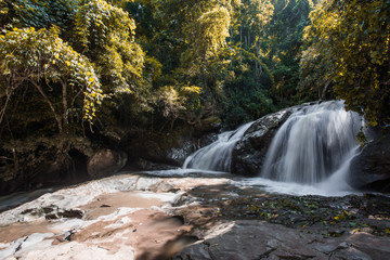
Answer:
<svg viewBox="0 0 390 260"><path fill-rule="evenodd" d="M388 259L388 237L367 233L324 237L259 220L220 223L204 240L185 247L176 260Z"/></svg>

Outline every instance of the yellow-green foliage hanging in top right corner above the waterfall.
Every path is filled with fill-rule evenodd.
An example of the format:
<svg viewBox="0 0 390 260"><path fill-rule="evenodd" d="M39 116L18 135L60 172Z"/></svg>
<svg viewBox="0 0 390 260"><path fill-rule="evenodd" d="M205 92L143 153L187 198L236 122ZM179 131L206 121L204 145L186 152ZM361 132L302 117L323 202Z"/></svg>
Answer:
<svg viewBox="0 0 390 260"><path fill-rule="evenodd" d="M387 0L324 1L306 28L310 49L302 69L320 60L316 69L326 67L337 95L372 126L390 121L389 6Z"/></svg>

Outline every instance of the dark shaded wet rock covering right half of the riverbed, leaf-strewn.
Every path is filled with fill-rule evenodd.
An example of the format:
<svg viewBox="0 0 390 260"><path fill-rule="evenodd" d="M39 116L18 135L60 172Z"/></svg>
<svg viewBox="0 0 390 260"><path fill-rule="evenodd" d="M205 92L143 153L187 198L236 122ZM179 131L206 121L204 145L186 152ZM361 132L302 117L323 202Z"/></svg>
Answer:
<svg viewBox="0 0 390 260"><path fill-rule="evenodd" d="M229 184L196 186L185 195L196 199L174 213L204 240L173 259L387 259L390 250L386 196L264 196Z"/></svg>

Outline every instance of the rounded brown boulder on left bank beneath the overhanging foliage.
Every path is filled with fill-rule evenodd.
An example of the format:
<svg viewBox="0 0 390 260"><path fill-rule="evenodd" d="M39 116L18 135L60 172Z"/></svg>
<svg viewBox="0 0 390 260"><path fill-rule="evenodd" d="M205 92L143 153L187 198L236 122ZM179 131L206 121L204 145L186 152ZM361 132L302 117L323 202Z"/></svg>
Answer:
<svg viewBox="0 0 390 260"><path fill-rule="evenodd" d="M127 155L112 150L100 150L88 161L87 171L92 179L113 176L127 162Z"/></svg>

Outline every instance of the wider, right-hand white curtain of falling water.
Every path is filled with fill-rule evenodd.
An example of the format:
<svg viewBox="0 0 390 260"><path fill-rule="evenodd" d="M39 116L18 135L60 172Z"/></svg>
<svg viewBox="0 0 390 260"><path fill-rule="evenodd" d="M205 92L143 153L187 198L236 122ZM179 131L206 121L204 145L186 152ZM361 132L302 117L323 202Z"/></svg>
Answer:
<svg viewBox="0 0 390 260"><path fill-rule="evenodd" d="M314 184L333 174L346 176L358 151L361 123L356 113L346 112L342 101L294 112L276 132L261 177Z"/></svg>

